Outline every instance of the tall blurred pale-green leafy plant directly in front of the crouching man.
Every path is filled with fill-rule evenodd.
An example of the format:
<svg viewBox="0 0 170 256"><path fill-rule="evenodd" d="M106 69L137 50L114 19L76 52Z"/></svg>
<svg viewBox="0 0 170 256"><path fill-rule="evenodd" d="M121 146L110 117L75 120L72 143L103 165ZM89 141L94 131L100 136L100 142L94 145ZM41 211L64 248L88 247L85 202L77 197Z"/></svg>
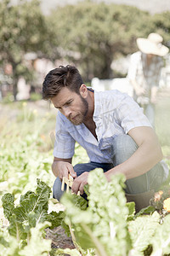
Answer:
<svg viewBox="0 0 170 256"><path fill-rule="evenodd" d="M127 254L131 242L127 233L128 210L123 181L124 177L117 175L108 183L102 170L90 172L86 211L74 206L71 195L62 198L66 207L65 222L72 225L71 230L82 249L95 248L102 256Z"/></svg>

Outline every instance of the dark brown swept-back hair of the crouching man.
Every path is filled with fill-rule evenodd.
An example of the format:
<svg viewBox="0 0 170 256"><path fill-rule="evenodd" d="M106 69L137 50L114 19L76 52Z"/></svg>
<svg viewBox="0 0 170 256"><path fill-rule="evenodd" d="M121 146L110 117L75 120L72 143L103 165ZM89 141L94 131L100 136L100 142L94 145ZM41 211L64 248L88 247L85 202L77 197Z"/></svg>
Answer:
<svg viewBox="0 0 170 256"><path fill-rule="evenodd" d="M77 67L70 65L66 67L59 66L46 75L42 84L42 99L53 98L63 87L67 87L79 94L79 88L82 84L82 77Z"/></svg>

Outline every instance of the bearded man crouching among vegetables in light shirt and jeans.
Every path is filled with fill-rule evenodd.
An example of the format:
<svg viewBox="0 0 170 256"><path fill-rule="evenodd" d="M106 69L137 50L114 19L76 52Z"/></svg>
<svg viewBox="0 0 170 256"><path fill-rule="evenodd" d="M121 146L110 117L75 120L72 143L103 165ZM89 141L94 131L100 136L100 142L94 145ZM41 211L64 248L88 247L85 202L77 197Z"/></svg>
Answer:
<svg viewBox="0 0 170 256"><path fill-rule="evenodd" d="M98 167L108 181L116 173L125 175L130 201L141 201L143 195L150 198L150 191L166 179L156 134L143 109L130 96L118 90L88 89L77 68L68 65L47 74L42 98L51 100L59 110L52 165L57 177L54 198L60 199L61 180L68 174L74 178L72 191L83 194L88 172ZM76 141L87 150L90 162L73 167Z"/></svg>

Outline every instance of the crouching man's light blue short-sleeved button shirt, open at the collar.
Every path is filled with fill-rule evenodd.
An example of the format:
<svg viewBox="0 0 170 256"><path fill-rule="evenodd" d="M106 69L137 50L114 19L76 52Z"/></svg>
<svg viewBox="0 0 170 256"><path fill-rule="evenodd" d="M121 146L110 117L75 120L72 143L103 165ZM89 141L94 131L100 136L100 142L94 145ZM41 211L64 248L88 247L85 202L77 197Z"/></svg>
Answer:
<svg viewBox="0 0 170 256"><path fill-rule="evenodd" d="M96 139L86 125L73 125L58 113L55 130L54 156L70 159L75 142L85 148L90 161L111 163L111 144L115 137L127 134L134 127L150 126L143 108L119 90L94 91L94 122Z"/></svg>

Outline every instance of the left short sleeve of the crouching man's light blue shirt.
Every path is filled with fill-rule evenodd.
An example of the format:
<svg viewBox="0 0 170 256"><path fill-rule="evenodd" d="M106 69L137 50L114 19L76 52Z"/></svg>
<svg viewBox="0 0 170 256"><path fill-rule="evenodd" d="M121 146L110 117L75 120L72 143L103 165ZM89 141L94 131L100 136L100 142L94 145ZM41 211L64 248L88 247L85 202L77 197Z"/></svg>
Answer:
<svg viewBox="0 0 170 256"><path fill-rule="evenodd" d="M54 157L70 159L74 155L75 140L65 129L62 113L58 113L55 126Z"/></svg>

